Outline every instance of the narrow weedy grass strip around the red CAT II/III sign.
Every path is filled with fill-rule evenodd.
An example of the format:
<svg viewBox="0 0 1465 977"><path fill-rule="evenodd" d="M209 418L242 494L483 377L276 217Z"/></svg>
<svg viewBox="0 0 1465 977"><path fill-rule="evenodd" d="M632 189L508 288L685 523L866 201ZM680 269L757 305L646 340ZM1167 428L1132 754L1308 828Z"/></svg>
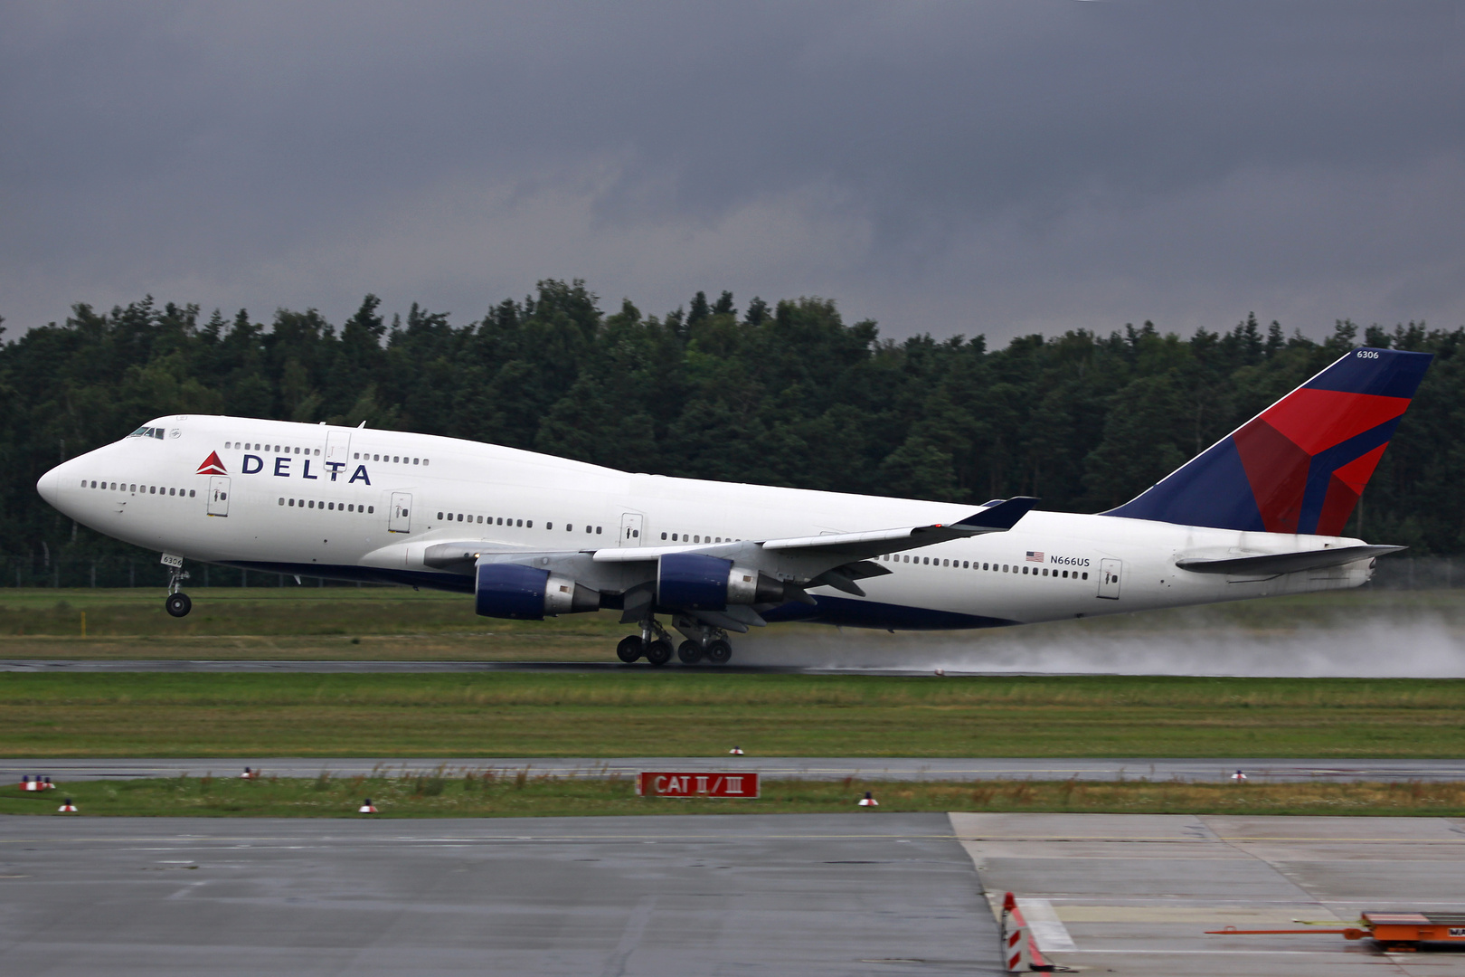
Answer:
<svg viewBox="0 0 1465 977"><path fill-rule="evenodd" d="M864 791L878 809L858 809ZM526 817L589 814L812 814L892 811L1074 811L1124 814L1462 816L1465 784L1220 784L998 781L763 781L757 800L637 797L620 779L524 770L428 770L331 779L166 778L78 782L44 794L0 792L0 814L50 814L70 797L79 816ZM357 814L371 797L378 814ZM70 816L70 814L67 814Z"/></svg>

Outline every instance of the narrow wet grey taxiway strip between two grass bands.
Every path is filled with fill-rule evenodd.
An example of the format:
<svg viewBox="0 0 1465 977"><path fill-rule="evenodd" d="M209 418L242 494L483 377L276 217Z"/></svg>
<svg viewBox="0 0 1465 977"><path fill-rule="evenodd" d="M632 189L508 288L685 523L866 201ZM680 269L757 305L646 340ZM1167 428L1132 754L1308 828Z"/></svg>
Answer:
<svg viewBox="0 0 1465 977"><path fill-rule="evenodd" d="M765 778L839 781L847 776L882 781L1229 781L1239 769L1248 781L1465 781L1465 760L1273 760L1273 759L932 759L932 757L182 757L104 760L0 760L0 782L19 782L23 775L64 781L126 779L138 776L215 776L242 772L245 766L265 776L316 776L330 770L338 776L450 769L522 770L555 776L633 776L639 770L756 770Z"/></svg>

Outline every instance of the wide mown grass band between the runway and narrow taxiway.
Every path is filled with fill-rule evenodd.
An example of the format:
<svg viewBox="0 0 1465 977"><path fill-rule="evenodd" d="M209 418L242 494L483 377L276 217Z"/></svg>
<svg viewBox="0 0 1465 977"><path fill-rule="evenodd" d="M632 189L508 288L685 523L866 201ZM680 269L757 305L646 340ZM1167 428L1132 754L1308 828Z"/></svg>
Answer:
<svg viewBox="0 0 1465 977"><path fill-rule="evenodd" d="M0 674L0 753L1458 757L1465 680Z"/></svg>

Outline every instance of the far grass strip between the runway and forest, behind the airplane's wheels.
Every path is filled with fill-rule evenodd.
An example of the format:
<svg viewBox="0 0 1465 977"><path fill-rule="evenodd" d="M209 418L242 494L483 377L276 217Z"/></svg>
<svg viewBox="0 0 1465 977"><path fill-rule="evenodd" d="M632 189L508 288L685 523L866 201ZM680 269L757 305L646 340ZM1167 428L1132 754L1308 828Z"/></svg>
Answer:
<svg viewBox="0 0 1465 977"><path fill-rule="evenodd" d="M215 587L189 593L193 614L174 620L163 612L161 589L0 589L0 658L607 662L627 633L609 611L501 621L475 617L464 595L406 587ZM982 652L1012 642L1096 642L1113 655L1112 649L1131 640L1184 649L1197 636L1219 633L1236 642L1299 634L1348 642L1361 623L1383 634L1427 623L1434 633L1465 644L1465 589L1316 593L946 634L781 624L754 628L737 637L735 646L740 658L763 652L774 661L776 649L788 647L817 646L819 655L857 650L900 661L929 656L938 647Z"/></svg>

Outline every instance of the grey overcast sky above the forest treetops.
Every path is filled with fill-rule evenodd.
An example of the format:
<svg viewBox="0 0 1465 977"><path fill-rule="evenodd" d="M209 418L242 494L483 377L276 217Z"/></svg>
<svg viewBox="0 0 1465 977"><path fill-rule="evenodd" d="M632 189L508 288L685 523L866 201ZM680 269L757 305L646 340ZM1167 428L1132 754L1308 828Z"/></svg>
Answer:
<svg viewBox="0 0 1465 977"><path fill-rule="evenodd" d="M9 335L539 278L885 335L1465 322L1465 4L0 3Z"/></svg>

